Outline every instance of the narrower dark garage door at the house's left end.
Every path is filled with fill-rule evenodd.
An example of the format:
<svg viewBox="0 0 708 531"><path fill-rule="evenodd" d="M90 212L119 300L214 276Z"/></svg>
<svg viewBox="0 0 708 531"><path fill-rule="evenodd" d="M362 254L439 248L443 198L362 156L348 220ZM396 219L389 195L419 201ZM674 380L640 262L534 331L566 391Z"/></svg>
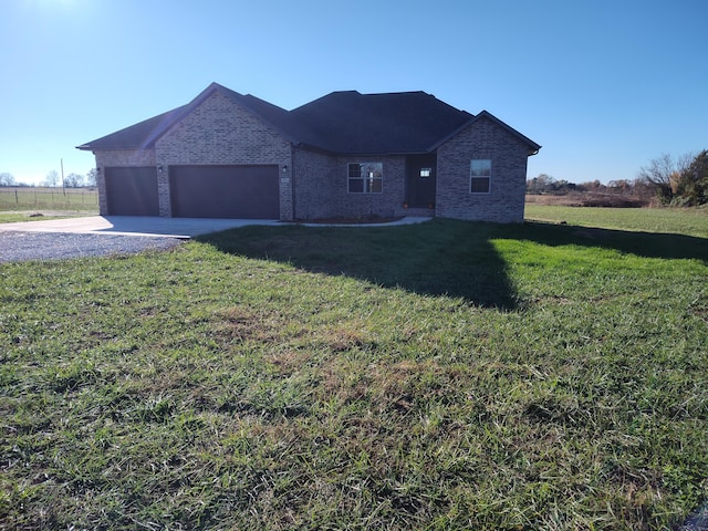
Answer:
<svg viewBox="0 0 708 531"><path fill-rule="evenodd" d="M106 202L111 216L159 216L157 169L105 168Z"/></svg>

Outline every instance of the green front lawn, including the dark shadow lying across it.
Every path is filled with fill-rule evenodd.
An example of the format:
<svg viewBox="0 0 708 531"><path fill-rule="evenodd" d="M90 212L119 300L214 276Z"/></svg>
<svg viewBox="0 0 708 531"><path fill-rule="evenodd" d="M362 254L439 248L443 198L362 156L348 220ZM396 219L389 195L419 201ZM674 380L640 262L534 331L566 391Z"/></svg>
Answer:
<svg viewBox="0 0 708 531"><path fill-rule="evenodd" d="M0 266L0 528L679 524L708 499L706 227L565 220Z"/></svg>

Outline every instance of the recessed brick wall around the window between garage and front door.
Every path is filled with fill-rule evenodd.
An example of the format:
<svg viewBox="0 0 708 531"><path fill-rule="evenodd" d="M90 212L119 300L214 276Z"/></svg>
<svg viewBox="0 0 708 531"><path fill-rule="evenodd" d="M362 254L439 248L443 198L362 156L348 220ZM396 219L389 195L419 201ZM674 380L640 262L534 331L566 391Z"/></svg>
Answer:
<svg viewBox="0 0 708 531"><path fill-rule="evenodd" d="M402 216L406 158L403 156L331 157L298 149L293 155L295 218ZM348 164L383 163L381 194L350 194Z"/></svg>

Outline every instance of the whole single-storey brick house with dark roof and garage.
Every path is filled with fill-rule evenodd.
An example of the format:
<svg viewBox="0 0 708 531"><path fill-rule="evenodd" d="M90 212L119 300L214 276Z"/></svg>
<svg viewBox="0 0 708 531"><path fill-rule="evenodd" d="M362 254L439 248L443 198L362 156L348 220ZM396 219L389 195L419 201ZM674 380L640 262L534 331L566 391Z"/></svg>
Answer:
<svg viewBox="0 0 708 531"><path fill-rule="evenodd" d="M540 147L424 92L334 92L285 111L212 83L79 149L96 157L102 215L520 222Z"/></svg>

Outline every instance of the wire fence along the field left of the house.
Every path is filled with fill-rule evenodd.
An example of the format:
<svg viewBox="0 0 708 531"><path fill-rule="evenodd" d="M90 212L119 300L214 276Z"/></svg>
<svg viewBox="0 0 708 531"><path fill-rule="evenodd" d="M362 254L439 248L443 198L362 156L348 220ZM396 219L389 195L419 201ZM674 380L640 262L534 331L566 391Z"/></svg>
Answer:
<svg viewBox="0 0 708 531"><path fill-rule="evenodd" d="M0 210L98 210L98 192L92 188L0 187Z"/></svg>

